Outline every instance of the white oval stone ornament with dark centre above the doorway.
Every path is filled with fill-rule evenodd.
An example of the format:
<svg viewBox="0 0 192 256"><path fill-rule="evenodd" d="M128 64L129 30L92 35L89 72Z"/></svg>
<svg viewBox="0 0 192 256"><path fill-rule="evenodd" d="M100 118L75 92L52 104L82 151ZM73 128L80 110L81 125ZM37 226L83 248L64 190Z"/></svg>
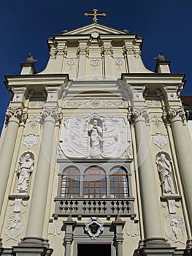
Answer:
<svg viewBox="0 0 192 256"><path fill-rule="evenodd" d="M103 232L103 225L103 222L97 217L91 217L91 219L85 223L85 232L87 232L92 239L96 239Z"/></svg>

